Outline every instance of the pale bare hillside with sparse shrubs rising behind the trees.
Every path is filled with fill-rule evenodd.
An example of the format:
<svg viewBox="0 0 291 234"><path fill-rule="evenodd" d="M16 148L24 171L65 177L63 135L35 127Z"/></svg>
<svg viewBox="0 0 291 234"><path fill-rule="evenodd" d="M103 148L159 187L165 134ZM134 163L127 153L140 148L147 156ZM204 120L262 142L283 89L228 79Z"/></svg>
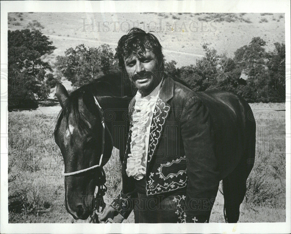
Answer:
<svg viewBox="0 0 291 234"><path fill-rule="evenodd" d="M114 50L119 38L132 26L156 31L166 61L175 60L178 67L194 64L203 56L203 42L228 56L253 37L264 39L267 50L274 49L274 42L285 42L281 13L9 13L8 29L24 29L33 20L40 23L38 26L43 28L36 28L58 48L47 56L48 61L79 44L98 47L107 43Z"/></svg>

